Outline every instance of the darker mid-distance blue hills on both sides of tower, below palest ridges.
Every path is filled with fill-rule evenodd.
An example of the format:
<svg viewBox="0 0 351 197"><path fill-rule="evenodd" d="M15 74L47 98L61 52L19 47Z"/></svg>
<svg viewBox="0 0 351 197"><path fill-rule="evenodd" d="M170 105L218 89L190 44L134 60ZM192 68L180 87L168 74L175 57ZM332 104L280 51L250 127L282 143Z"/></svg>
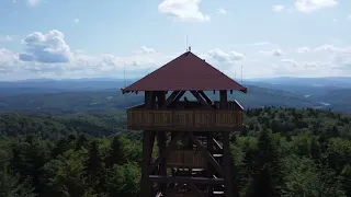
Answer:
<svg viewBox="0 0 351 197"><path fill-rule="evenodd" d="M284 106L284 107L324 107L304 96L280 90L249 85L249 93L234 92L229 99L236 99L244 107ZM218 100L218 94L207 92ZM68 113L97 113L110 109L126 109L144 102L144 94L122 94L120 90L77 91L59 93L35 93L0 96L0 113L44 113L52 115ZM191 99L191 95L186 95Z"/></svg>

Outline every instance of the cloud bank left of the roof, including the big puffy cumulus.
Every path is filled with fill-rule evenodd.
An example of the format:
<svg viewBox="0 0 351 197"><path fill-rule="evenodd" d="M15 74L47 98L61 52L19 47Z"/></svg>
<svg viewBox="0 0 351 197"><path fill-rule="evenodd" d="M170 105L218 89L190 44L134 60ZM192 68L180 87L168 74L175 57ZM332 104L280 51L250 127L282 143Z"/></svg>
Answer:
<svg viewBox="0 0 351 197"><path fill-rule="evenodd" d="M71 50L65 35L56 30L47 34L34 32L22 40L24 53L13 53L0 48L0 78L21 78L21 76L70 78L70 77L112 77L118 78L126 69L132 78L141 77L165 65L177 55L157 53L152 48L140 47L139 53L129 56L102 54L88 56L83 51ZM123 72L122 72L123 73ZM7 74L7 76L4 76Z"/></svg>

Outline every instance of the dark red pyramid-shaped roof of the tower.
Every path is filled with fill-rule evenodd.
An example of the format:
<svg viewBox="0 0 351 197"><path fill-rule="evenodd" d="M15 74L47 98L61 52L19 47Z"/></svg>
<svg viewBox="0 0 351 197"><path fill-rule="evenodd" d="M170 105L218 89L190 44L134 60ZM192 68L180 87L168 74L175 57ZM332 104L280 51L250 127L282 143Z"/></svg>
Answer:
<svg viewBox="0 0 351 197"><path fill-rule="evenodd" d="M186 51L135 83L122 89L129 91L216 91L247 88L237 83L205 60Z"/></svg>

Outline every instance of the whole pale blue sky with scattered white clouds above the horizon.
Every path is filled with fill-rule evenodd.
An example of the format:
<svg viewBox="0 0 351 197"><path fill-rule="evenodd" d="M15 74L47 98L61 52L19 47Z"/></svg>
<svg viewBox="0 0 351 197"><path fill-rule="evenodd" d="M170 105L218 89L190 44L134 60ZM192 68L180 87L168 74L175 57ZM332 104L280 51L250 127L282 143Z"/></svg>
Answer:
<svg viewBox="0 0 351 197"><path fill-rule="evenodd" d="M186 35L230 77L351 76L347 0L2 0L0 80L143 77Z"/></svg>

